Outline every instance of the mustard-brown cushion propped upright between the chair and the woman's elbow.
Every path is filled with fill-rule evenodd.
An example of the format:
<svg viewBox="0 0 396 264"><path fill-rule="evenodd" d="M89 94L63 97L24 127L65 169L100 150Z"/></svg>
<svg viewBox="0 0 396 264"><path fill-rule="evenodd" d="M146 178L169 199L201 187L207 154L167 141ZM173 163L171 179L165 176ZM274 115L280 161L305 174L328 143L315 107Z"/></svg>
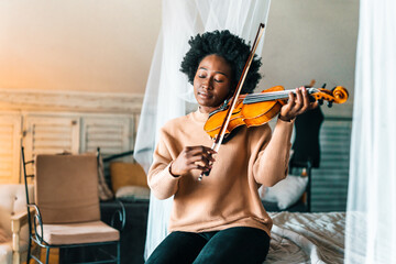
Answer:
<svg viewBox="0 0 396 264"><path fill-rule="evenodd" d="M138 163L110 163L111 186L113 193L124 186L141 186L148 188L147 177Z"/></svg>

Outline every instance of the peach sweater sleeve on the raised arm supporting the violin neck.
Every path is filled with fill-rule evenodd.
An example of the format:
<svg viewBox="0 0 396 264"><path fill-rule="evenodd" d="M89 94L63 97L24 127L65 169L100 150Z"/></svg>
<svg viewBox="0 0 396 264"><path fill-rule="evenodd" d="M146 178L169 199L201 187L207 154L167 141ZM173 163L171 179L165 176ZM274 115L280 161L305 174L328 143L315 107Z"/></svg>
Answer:
<svg viewBox="0 0 396 264"><path fill-rule="evenodd" d="M253 165L256 183L271 187L286 177L293 125L294 121L278 119L270 142L266 145L263 143Z"/></svg>

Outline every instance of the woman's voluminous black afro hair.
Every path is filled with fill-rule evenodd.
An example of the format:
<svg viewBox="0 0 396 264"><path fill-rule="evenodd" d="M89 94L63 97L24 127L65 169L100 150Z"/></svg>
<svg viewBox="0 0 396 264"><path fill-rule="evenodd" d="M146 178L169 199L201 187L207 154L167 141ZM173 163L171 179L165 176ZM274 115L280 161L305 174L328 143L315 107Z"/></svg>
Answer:
<svg viewBox="0 0 396 264"><path fill-rule="evenodd" d="M198 34L188 42L190 50L182 62L180 72L186 74L188 81L194 82L194 77L200 62L208 55L216 54L223 57L232 68L232 89L235 89L242 75L244 65L250 54L250 45L237 35L226 31L213 31ZM241 94L252 94L257 86L261 75L258 68L262 65L257 55L254 55Z"/></svg>

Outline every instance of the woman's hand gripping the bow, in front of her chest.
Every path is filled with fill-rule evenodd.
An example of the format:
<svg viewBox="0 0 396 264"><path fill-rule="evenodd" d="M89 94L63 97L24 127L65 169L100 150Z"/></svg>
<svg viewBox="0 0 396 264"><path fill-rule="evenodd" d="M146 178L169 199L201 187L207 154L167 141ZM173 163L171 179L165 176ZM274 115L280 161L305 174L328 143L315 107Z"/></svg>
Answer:
<svg viewBox="0 0 396 264"><path fill-rule="evenodd" d="M207 146L186 146L172 163L169 172L174 176L184 175L191 169L208 172L215 162L212 154L216 151Z"/></svg>

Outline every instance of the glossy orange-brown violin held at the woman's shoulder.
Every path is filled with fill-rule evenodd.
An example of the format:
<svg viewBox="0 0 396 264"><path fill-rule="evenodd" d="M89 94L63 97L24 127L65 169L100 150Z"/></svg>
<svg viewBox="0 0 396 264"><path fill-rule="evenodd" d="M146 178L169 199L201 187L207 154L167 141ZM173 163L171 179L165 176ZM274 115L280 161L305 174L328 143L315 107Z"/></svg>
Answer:
<svg viewBox="0 0 396 264"><path fill-rule="evenodd" d="M241 125L257 127L263 125L275 118L280 108L286 103L289 92L295 90L285 90L282 86L263 90L260 94L241 95L237 100L237 105L232 110L228 127L226 128L226 136L235 128ZM337 86L332 90L324 88L307 88L307 92L311 99L318 100L320 105L323 100L328 101L328 107L332 103L344 103L348 100L348 90L342 86ZM221 124L226 119L227 111L230 108L230 101L226 101L219 109L209 113L209 118L205 123L204 130L216 139L221 129Z"/></svg>

